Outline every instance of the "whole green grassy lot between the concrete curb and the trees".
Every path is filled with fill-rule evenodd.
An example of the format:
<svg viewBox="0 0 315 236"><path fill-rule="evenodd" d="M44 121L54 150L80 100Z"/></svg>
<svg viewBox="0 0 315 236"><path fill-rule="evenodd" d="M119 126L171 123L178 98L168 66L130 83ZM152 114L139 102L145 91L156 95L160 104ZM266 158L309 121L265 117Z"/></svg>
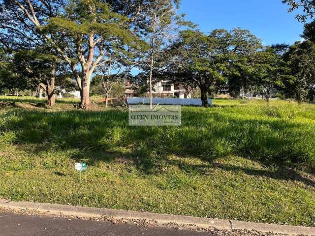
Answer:
<svg viewBox="0 0 315 236"><path fill-rule="evenodd" d="M180 127L130 127L74 100L0 101L15 102L0 108L2 197L315 226L315 105L216 100Z"/></svg>

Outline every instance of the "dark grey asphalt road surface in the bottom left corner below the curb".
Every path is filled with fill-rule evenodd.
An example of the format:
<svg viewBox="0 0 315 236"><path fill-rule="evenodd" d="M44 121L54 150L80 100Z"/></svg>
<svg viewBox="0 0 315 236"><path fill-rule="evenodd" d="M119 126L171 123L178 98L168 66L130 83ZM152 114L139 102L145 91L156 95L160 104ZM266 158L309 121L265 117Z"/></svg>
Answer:
<svg viewBox="0 0 315 236"><path fill-rule="evenodd" d="M0 212L0 236L210 236L210 234Z"/></svg>

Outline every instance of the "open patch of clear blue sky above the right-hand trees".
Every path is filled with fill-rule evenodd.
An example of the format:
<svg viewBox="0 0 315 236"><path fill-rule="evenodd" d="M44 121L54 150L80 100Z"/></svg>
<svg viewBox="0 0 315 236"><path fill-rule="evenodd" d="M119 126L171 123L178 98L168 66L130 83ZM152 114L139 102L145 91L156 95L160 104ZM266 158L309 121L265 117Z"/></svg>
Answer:
<svg viewBox="0 0 315 236"><path fill-rule="evenodd" d="M303 24L287 12L281 0L182 0L180 13L199 25L213 29L249 29L264 45L293 44L301 39Z"/></svg>

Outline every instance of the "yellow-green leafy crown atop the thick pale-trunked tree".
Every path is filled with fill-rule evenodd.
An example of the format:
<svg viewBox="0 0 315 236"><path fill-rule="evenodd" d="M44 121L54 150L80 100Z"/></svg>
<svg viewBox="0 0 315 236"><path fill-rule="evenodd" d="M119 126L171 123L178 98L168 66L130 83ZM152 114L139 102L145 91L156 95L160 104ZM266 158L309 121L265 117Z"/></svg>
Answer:
<svg viewBox="0 0 315 236"><path fill-rule="evenodd" d="M114 47L114 53L120 51L128 54L120 44L138 49L146 47L143 41L132 34L128 23L129 19L114 12L108 3L100 0L74 0L65 8L64 15L50 18L49 24L42 29L44 32L67 32L74 40L78 35L90 35L93 32L98 37L102 36L101 42L106 42L107 47Z"/></svg>

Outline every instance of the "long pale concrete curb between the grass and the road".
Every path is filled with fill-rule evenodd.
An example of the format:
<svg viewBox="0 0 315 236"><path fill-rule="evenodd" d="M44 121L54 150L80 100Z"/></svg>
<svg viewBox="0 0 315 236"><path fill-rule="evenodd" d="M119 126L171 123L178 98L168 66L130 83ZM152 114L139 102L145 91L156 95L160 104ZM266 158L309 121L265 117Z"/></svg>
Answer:
<svg viewBox="0 0 315 236"><path fill-rule="evenodd" d="M181 215L167 215L158 213L147 213L137 211L126 211L126 210L113 210L104 208L92 208L92 207L74 207L74 206L63 206L53 204L41 204L31 202L13 202L10 200L0 199L0 207L7 207L12 209L30 209L37 210L39 212L50 212L50 213L62 213L64 215L78 216L78 217L110 217L116 219L145 219L155 220L159 225L165 223L176 223L178 225L189 225L199 228L208 229L217 228L222 230L255 230L264 233L273 232L278 234L287 235L308 235L315 236L315 228L301 227L301 226L287 226L287 225L274 225L274 224L262 224L243 222L236 220L220 220L220 219L209 219L199 218L192 216L181 216Z"/></svg>

